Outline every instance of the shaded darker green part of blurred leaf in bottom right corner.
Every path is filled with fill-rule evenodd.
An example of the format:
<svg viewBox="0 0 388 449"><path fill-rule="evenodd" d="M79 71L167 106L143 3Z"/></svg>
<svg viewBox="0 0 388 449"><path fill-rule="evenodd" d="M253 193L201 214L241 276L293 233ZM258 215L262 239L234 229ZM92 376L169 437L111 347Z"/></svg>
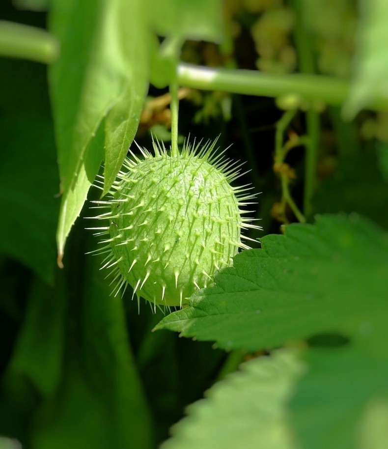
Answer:
<svg viewBox="0 0 388 449"><path fill-rule="evenodd" d="M312 348L305 362L307 374L289 405L302 448L371 449L365 446L373 441L370 422L362 422L370 417L362 416L370 413L365 407L371 400L380 402L388 393L387 358L350 344Z"/></svg>

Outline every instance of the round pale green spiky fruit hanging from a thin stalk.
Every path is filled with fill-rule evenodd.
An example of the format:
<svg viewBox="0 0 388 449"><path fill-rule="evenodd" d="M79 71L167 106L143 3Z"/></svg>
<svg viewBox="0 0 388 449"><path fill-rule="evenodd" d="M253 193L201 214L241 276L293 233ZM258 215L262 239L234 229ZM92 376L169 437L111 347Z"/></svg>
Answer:
<svg viewBox="0 0 388 449"><path fill-rule="evenodd" d="M154 143L154 155L133 152L118 174L107 201L95 201L108 212L97 218L108 234L102 268L111 268L115 294L127 284L154 305L182 306L209 285L216 270L230 265L241 242L241 229L256 225L243 218L249 188L232 187L239 176L216 142L194 148L185 144L177 156ZM102 181L99 181L102 183Z"/></svg>

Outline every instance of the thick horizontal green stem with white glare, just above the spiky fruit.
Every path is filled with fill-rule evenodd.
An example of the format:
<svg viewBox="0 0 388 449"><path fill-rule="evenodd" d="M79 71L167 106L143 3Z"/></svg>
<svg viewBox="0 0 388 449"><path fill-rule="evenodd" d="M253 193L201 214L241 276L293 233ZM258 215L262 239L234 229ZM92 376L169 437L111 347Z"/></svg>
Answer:
<svg viewBox="0 0 388 449"><path fill-rule="evenodd" d="M306 100L322 100L336 106L344 103L350 89L348 81L324 75L274 75L257 70L214 69L186 63L180 63L178 66L178 83L194 89L265 97L297 94ZM376 99L368 106L375 110L388 111L388 99Z"/></svg>

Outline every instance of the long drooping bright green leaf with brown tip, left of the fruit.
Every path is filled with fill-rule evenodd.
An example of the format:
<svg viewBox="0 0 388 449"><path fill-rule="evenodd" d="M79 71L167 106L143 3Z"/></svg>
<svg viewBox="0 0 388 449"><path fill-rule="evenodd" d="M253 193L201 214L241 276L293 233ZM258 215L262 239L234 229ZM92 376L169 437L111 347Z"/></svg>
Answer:
<svg viewBox="0 0 388 449"><path fill-rule="evenodd" d="M100 154L86 157L102 120L106 117L109 145L105 190L135 136L147 87L147 40L140 0L55 0L50 12L50 29L61 43L50 81L64 195L57 234L62 254L96 161L102 161Z"/></svg>

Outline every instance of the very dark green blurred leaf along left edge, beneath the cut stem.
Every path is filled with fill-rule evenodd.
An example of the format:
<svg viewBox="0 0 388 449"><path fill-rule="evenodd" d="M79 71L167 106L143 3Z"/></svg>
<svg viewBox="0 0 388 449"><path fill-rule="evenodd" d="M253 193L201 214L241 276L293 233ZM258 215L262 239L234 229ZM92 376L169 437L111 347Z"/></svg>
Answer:
<svg viewBox="0 0 388 449"><path fill-rule="evenodd" d="M53 281L59 201L45 68L2 60L0 252Z"/></svg>

